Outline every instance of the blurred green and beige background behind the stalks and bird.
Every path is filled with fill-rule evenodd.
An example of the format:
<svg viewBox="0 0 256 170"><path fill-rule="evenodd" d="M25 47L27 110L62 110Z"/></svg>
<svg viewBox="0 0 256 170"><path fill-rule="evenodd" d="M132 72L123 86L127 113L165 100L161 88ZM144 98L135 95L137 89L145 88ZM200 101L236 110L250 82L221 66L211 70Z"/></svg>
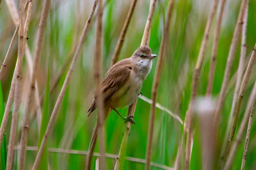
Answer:
<svg viewBox="0 0 256 170"><path fill-rule="evenodd" d="M35 0L33 14L29 26L28 45L32 56L35 51L35 41L38 32L38 24L44 1ZM111 58L125 22L131 0L107 0L103 14L103 74L107 72L111 64ZM158 54L161 35L163 31L163 15L167 12L169 0L158 0L153 15L151 37L149 46L154 54ZM16 4L19 4L16 2ZM38 68L38 87L42 94L47 83L47 67L49 58L49 77L54 78L61 69L67 54L79 40L81 31L87 20L93 0L52 0L50 13L47 20L47 27L44 36L44 45L41 55L41 62ZM125 43L122 48L119 60L128 58L140 46L142 39L150 0L138 0ZM164 58L163 72L160 79L157 102L179 115L182 120L185 118L188 108L191 92L191 83L193 69L198 57L201 46L204 29L206 26L209 10L212 0L175 0L172 21L170 26L169 40ZM217 66L213 84L213 95L217 96L221 89L224 76L224 70L227 61L227 55L233 36L236 20L240 8L239 0L228 0L225 7L224 19L221 28L221 37L218 46ZM95 21L95 18L93 19ZM93 99L93 92L96 84L93 78L93 57L96 37L96 24L93 25L88 33L80 57L76 63L76 68L71 78L69 87L64 96L61 108L58 112L52 133L48 139L48 147L70 150L87 151L90 143L90 137L96 122L96 112L87 118L87 109L90 107ZM210 55L212 49L212 40L214 35L215 21L209 36L209 45L205 54L201 76L198 84L198 95L204 96L207 89ZM12 35L15 31L9 10L5 1L0 3L0 62L6 55ZM247 25L247 60L250 57L254 44L256 42L256 1L249 0L248 25ZM238 68L241 42L239 41L236 50L236 56L233 62L231 77ZM11 53L11 59L8 61L8 70L2 78L3 100L0 100L0 115L9 95L9 88L12 81L12 75L17 59L17 38ZM157 59L153 61L153 67L148 78L143 83L143 95L151 98L151 89L154 79ZM67 67L68 69L68 67ZM55 105L55 101L64 82L67 71L58 82L57 88L50 94L49 116ZM23 92L20 105L19 121L17 127L16 144L20 142L20 130L26 104L27 90L29 86L29 70L24 57L23 66ZM250 95L253 83L256 78L256 68L253 68L252 75L247 86L244 100L241 106L239 124L246 107L247 99ZM221 144L227 128L231 104L233 99L234 83L230 85L227 97L222 109L221 121L218 128L218 146L215 149L217 153L221 150ZM1 97L1 95L0 95ZM3 106L3 109L2 109ZM128 108L119 109L122 115L127 114ZM150 104L138 100L134 121L136 125L131 127L128 138L126 156L145 159L148 119ZM11 110L12 113L12 110ZM31 114L32 115L32 114ZM254 116L250 132L249 146L245 168L248 170L256 169L256 118ZM9 140L9 131L11 124L11 114L6 128L6 143ZM192 149L191 166L192 170L202 169L201 138L198 131L198 120L194 119L195 140ZM122 141L122 133L125 124L114 112L105 122L105 145L106 153L118 154ZM168 113L156 109L156 120L154 127L152 161L157 164L164 164L174 167L177 149L183 135L183 125L174 119ZM38 145L39 130L37 121L34 119L29 128L28 146ZM244 133L245 136L245 133ZM233 169L240 169L241 158L244 149L244 138L242 139L233 164ZM1 149L1 152L2 149ZM96 144L95 152L99 152ZM16 158L14 168L17 169L17 156L19 152L15 151ZM218 155L218 154L217 154ZM36 151L27 151L26 169L31 169L35 161ZM184 154L183 154L184 157ZM85 167L86 156L66 153L49 153L49 167L51 170L80 170ZM184 161L184 159L183 159ZM184 162L183 162L184 163ZM182 164L183 164L182 163ZM95 166L95 157L93 158ZM115 160L107 158L108 169L113 169ZM184 165L182 165L183 167ZM145 165L142 163L125 160L124 170L142 170ZM161 170L161 168L151 167L152 170Z"/></svg>

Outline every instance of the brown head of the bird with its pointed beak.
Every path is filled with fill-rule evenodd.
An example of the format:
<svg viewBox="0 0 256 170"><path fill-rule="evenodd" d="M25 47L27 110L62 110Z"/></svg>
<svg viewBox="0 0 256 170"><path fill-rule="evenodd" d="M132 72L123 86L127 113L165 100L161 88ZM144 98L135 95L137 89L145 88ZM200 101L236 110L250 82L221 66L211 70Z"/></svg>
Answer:
<svg viewBox="0 0 256 170"><path fill-rule="evenodd" d="M152 54L149 46L140 46L132 55L132 58L136 59L137 61L151 60L155 57L157 57L157 55Z"/></svg>

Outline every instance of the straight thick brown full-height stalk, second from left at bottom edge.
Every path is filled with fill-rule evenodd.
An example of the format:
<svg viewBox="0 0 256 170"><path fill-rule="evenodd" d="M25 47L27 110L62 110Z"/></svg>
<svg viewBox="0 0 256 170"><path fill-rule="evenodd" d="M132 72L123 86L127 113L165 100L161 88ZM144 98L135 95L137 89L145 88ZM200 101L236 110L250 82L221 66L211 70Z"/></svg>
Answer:
<svg viewBox="0 0 256 170"><path fill-rule="evenodd" d="M21 139L20 139L21 149L20 149L20 161L19 161L19 169L20 170L23 170L25 168L27 135L29 132L29 117L30 117L33 99L35 96L36 74L37 74L37 70L38 70L38 64L39 64L40 58L41 58L41 51L42 51L43 41L44 41L44 31L45 31L45 26L47 23L47 17L48 17L48 12L49 12L49 8L50 8L50 3L51 3L51 0L44 1L41 19L40 19L40 23L38 26L38 36L37 36L37 41L36 41L36 45L35 45L35 56L34 56L33 66L32 66L32 75L31 75L31 81L30 81L29 91L28 91L28 95L27 95L25 113L24 113L24 117L23 117L22 131L21 131Z"/></svg>

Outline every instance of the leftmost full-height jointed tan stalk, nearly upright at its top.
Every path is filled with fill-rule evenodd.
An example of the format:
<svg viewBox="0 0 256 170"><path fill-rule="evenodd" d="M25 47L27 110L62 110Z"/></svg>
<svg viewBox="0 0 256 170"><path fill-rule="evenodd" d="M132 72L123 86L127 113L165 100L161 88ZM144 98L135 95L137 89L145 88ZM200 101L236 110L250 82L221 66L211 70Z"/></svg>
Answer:
<svg viewBox="0 0 256 170"><path fill-rule="evenodd" d="M12 160L14 155L14 146L15 146L15 136L16 136L16 128L18 123L18 114L19 114L19 106L20 106L20 98L21 98L21 67L22 60L24 54L24 0L20 0L19 6L19 39L18 39L18 57L17 64L14 72L15 80L15 95L14 95L14 104L13 104L13 112L12 112L12 123L11 123L11 131L8 145L8 153L7 153L7 162L6 162L6 170L12 169Z"/></svg>

